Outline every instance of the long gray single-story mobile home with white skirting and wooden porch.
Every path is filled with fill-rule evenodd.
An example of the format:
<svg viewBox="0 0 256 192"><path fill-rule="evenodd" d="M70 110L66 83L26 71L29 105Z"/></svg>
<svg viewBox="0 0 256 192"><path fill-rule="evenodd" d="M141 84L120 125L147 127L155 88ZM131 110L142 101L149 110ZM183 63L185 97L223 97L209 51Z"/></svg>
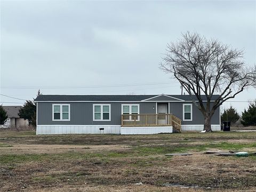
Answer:
<svg viewBox="0 0 256 192"><path fill-rule="evenodd" d="M37 134L172 133L202 131L204 124L190 95L39 95L35 102ZM220 131L219 109L211 124Z"/></svg>

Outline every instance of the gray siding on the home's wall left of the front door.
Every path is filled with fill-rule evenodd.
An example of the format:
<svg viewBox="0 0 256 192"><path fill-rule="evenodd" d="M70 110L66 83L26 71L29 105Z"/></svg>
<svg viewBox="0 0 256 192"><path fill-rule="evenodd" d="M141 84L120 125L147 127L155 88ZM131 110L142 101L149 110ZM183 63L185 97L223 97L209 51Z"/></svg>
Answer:
<svg viewBox="0 0 256 192"><path fill-rule="evenodd" d="M52 104L70 104L70 121L52 121ZM102 102L38 102L37 124L121 125L122 104L140 104L140 114L156 113L155 102L105 102L111 105L111 121L93 121L93 104L102 104Z"/></svg>

